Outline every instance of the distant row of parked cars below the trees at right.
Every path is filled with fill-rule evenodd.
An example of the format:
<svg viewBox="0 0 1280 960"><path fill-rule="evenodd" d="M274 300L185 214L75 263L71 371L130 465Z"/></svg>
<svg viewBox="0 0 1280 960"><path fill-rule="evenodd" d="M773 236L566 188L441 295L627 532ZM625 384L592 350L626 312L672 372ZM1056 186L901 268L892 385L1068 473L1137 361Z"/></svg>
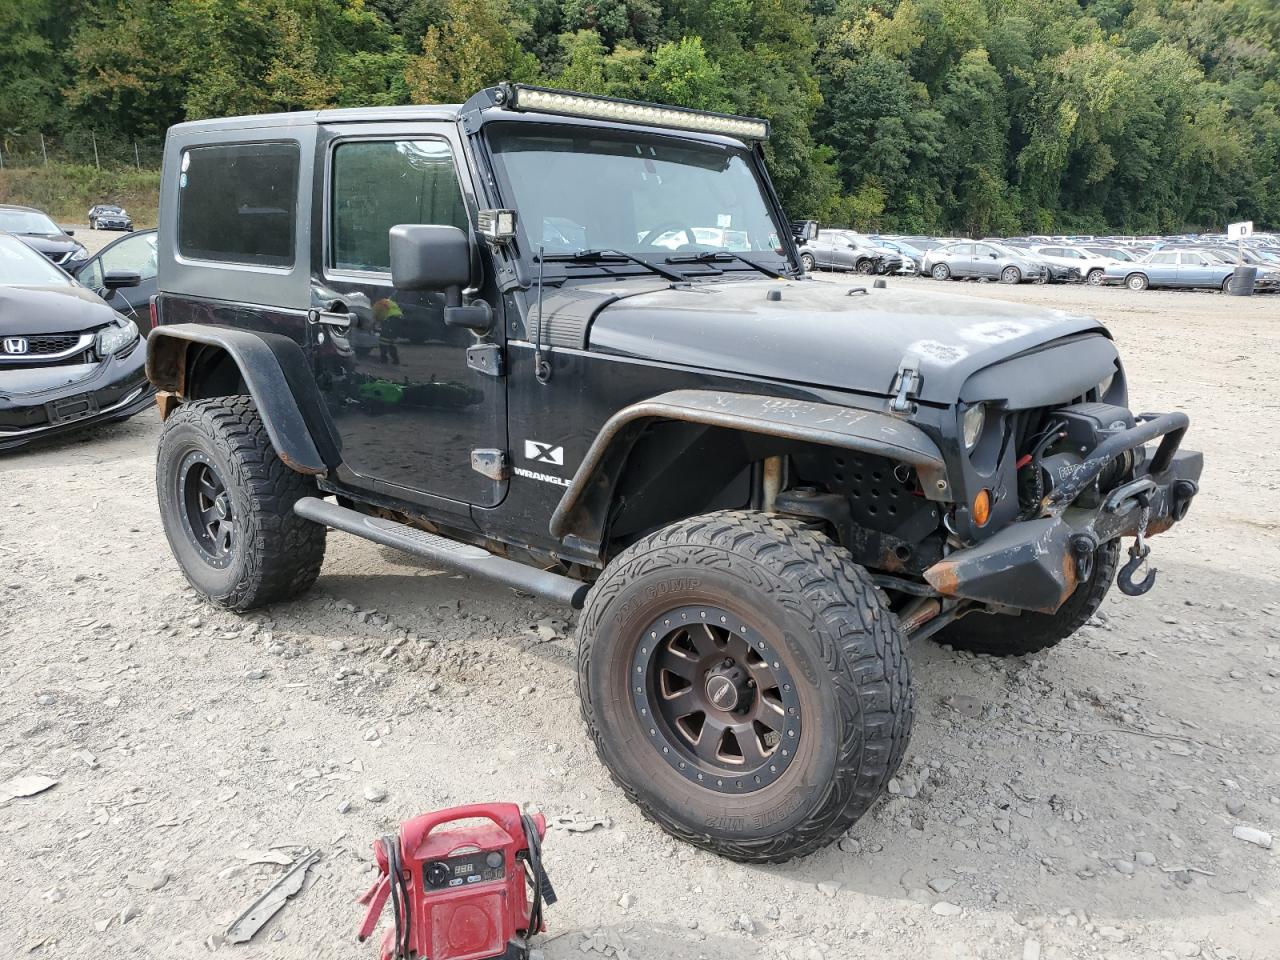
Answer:
<svg viewBox="0 0 1280 960"><path fill-rule="evenodd" d="M823 228L800 239L805 269L925 274L934 280L1119 284L1226 291L1242 262L1254 291L1280 291L1280 236L899 237Z"/></svg>

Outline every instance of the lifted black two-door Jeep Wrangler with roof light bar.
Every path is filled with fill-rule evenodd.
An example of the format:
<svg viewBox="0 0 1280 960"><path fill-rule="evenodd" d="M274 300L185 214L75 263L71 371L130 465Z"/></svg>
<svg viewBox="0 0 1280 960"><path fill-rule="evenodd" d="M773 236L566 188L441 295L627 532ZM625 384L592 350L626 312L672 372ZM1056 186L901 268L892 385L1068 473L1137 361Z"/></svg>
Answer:
<svg viewBox="0 0 1280 960"><path fill-rule="evenodd" d="M169 132L156 484L242 611L326 527L582 608L600 759L678 837L783 860L911 731L909 640L1080 627L1201 456L1083 316L808 279L768 124L498 86Z"/></svg>

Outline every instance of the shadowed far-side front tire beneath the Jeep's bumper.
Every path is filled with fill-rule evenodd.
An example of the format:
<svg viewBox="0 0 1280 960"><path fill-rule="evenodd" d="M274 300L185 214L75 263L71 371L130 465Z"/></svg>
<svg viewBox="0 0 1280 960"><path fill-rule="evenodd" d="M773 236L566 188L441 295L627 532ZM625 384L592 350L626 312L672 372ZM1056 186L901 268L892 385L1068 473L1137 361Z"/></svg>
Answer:
<svg viewBox="0 0 1280 960"><path fill-rule="evenodd" d="M1083 627L1102 605L1119 562L1120 541L1105 543L1093 554L1093 573L1075 588L1056 613L970 613L940 630L934 639L957 650L992 657L1021 657L1056 646Z"/></svg>

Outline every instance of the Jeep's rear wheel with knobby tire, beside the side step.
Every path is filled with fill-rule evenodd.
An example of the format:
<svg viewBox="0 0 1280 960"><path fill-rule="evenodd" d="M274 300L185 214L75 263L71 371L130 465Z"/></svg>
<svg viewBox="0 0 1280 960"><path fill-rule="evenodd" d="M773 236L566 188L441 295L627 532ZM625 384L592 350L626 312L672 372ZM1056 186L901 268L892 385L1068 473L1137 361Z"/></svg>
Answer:
<svg viewBox="0 0 1280 960"><path fill-rule="evenodd" d="M250 397L183 403L156 451L160 520L178 566L214 603L247 611L311 588L325 527L293 512L315 481L289 470Z"/></svg>

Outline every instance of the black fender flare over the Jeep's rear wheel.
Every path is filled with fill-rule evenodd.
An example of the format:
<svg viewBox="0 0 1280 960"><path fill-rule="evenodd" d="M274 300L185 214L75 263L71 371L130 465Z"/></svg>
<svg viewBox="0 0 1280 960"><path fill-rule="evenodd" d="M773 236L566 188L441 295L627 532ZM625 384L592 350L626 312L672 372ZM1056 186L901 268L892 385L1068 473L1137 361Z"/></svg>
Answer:
<svg viewBox="0 0 1280 960"><path fill-rule="evenodd" d="M157 326L147 337L147 379L157 390L186 398L192 344L232 358L257 404L280 461L300 474L321 475L342 462L337 431L297 342L275 333L206 324ZM166 412L164 404L161 410Z"/></svg>

